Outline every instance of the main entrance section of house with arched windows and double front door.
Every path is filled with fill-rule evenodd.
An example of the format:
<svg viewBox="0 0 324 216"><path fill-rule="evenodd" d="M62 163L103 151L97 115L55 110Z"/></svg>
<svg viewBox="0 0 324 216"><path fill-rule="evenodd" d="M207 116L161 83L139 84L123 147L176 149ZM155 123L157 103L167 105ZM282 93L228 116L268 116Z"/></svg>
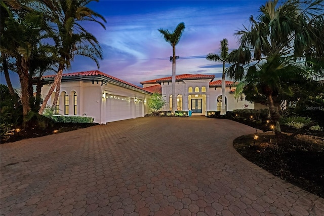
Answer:
<svg viewBox="0 0 324 216"><path fill-rule="evenodd" d="M141 82L144 89L161 93L167 104L163 110L172 110L171 78L160 78ZM216 80L214 75L176 76L177 110L189 111L193 114L208 115L210 112L220 111L222 106L222 81ZM226 81L225 107L226 111L236 109L254 109L254 103L245 100L245 96L234 98L233 82Z"/></svg>

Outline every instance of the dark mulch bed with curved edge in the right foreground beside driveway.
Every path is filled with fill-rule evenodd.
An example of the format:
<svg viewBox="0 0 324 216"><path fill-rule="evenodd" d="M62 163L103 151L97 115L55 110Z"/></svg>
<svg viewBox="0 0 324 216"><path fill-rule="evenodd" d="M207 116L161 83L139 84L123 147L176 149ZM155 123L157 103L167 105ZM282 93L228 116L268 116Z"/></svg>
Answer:
<svg viewBox="0 0 324 216"><path fill-rule="evenodd" d="M240 136L233 142L238 153L275 176L324 198L324 137L284 133L275 143L272 132ZM271 139L271 141L270 141Z"/></svg>

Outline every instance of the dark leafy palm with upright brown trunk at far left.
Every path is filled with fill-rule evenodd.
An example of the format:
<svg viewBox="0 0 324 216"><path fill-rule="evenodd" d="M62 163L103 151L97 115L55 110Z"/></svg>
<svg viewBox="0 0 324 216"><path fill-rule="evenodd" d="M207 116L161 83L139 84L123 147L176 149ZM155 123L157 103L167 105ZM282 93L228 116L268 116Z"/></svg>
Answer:
<svg viewBox="0 0 324 216"><path fill-rule="evenodd" d="M45 21L42 13L28 7L28 2L6 1L1 2L1 7L2 11L6 9L8 12L5 21L1 23L4 29L1 35L1 52L2 56L15 59L15 68L21 85L24 122L26 122L25 117L30 111L29 98L32 97L32 93L28 91L28 86L31 86L29 65L35 49L41 40L46 38L43 34Z"/></svg>

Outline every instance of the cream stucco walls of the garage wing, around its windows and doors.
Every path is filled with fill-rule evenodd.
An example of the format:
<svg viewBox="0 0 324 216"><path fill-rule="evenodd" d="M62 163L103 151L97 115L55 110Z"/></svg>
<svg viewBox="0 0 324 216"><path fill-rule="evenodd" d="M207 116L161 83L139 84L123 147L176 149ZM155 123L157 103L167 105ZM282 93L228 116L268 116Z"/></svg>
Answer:
<svg viewBox="0 0 324 216"><path fill-rule="evenodd" d="M49 92L51 85L44 85L42 88L41 94L45 97L45 95ZM83 81L67 81L61 83L60 89L60 97L59 97L59 109L60 114L64 115L64 92L69 95L69 116L74 114L73 107L73 94L76 92L77 94L77 116L86 115L88 117L93 117L94 122L105 124L108 121L108 117L106 115L106 109L109 110L109 107L106 106L106 99L102 97L103 93L111 94L111 95L119 95L132 98L135 102L135 98L137 100L142 100L141 107L139 104L137 106L132 106L134 109L134 115L122 115L127 118L136 118L140 116L144 116L148 113L147 100L150 97L149 94L145 94L133 89L128 89L127 87L117 86L112 83L107 83L101 86L101 82L98 84L94 82L92 84L91 81L83 82ZM54 94L48 101L48 105L52 105L54 99ZM136 110L140 110L136 112ZM137 113L137 115L136 115Z"/></svg>

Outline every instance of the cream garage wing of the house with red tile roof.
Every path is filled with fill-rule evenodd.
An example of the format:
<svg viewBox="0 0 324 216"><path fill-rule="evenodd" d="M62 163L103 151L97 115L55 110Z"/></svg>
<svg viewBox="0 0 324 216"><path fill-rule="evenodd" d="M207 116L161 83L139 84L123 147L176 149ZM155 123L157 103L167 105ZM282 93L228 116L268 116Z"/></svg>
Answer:
<svg viewBox="0 0 324 216"><path fill-rule="evenodd" d="M42 95L47 95L56 75L42 77ZM55 92L48 101L52 104ZM106 124L144 117L149 112L150 91L99 70L63 74L56 114L93 117Z"/></svg>

